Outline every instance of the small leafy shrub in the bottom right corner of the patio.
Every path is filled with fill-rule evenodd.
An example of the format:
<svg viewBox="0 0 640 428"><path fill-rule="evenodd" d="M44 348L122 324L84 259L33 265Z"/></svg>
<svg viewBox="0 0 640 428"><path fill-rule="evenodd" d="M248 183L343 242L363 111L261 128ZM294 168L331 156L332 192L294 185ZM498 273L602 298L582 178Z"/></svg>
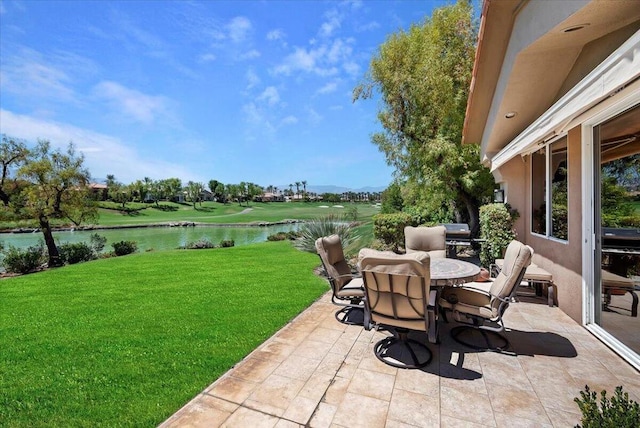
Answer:
<svg viewBox="0 0 640 428"><path fill-rule="evenodd" d="M622 387L616 387L614 396L607 398L607 392L600 393L600 405L598 395L589 389L589 385L580 391L581 398L573 400L578 404L582 412L578 428L632 428L640 426L640 404L629 399L629 394L622 392Z"/></svg>

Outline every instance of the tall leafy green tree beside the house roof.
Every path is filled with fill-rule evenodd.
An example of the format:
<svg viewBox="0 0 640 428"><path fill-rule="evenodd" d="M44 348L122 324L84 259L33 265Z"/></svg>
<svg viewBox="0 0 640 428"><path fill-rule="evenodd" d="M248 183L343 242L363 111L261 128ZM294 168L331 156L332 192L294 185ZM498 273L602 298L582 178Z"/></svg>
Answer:
<svg viewBox="0 0 640 428"><path fill-rule="evenodd" d="M477 236L495 184L478 146L461 144L476 32L469 1L435 9L387 38L353 96L382 98L384 131L372 140L395 167L405 206L432 221L468 221Z"/></svg>

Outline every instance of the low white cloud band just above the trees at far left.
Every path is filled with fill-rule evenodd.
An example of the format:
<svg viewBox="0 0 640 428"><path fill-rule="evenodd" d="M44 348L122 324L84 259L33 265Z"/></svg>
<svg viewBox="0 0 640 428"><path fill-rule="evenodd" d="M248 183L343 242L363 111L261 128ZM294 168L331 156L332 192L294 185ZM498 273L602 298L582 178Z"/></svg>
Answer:
<svg viewBox="0 0 640 428"><path fill-rule="evenodd" d="M131 143L66 123L0 109L0 132L30 142L44 138L51 142L53 148L64 149L73 142L85 155L85 166L93 177L114 174L118 180L127 183L141 177L188 179L192 176L189 169L180 165L141 155Z"/></svg>

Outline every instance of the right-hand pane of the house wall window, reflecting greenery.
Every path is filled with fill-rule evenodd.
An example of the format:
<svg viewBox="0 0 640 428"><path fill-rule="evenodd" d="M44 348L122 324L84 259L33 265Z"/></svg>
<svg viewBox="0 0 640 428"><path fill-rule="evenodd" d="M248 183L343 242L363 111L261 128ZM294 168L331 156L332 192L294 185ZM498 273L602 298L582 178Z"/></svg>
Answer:
<svg viewBox="0 0 640 428"><path fill-rule="evenodd" d="M551 233L554 238L569 239L567 227L567 139L551 144Z"/></svg>

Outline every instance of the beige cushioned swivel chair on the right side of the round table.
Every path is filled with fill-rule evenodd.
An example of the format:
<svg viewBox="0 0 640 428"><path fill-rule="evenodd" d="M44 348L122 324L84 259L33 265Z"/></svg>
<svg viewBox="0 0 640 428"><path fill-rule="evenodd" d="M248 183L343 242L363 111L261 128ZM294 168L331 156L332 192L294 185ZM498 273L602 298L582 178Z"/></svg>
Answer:
<svg viewBox="0 0 640 428"><path fill-rule="evenodd" d="M456 321L466 324L451 330L451 337L456 342L478 350L504 351L509 347L509 340L500 334L505 331L502 317L532 255L531 247L511 241L502 269L492 282L444 288L440 307L445 313L452 312ZM477 344L478 333L483 345Z"/></svg>

